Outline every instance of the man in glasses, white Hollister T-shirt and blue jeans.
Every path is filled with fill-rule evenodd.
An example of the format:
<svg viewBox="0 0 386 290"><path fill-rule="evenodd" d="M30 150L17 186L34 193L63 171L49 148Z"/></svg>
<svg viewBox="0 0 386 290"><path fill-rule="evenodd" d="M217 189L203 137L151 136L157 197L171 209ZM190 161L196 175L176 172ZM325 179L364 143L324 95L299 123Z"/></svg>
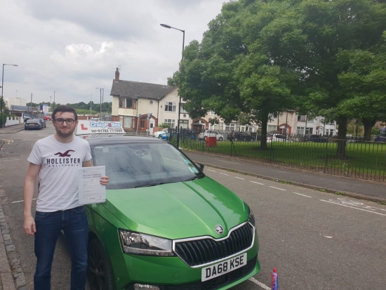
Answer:
<svg viewBox="0 0 386 290"><path fill-rule="evenodd" d="M51 265L60 230L71 255L71 290L84 289L87 269L88 222L84 206L78 204L78 169L93 166L90 145L74 136L78 115L72 107L58 106L52 113L56 133L38 140L31 154L24 183L24 229L35 237L34 289L51 289ZM32 197L39 176L35 218ZM109 178L102 176L100 184Z"/></svg>

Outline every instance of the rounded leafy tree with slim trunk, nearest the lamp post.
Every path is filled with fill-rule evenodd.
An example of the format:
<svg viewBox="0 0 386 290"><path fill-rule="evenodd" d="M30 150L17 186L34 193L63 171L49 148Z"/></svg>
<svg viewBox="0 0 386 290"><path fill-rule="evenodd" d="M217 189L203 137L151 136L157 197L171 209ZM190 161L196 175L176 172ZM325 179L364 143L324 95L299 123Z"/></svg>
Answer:
<svg viewBox="0 0 386 290"><path fill-rule="evenodd" d="M249 2L253 1L222 6L201 44L192 41L185 48L180 70L168 84L178 86L185 110L193 119L211 110L226 124L261 121L262 136L266 136L269 115L291 108L291 86L298 83L298 72L275 65L257 45L260 39L248 37L248 19L260 20L262 27L269 22L261 13L251 13ZM275 13L279 17L280 11ZM263 137L263 149L266 141Z"/></svg>

